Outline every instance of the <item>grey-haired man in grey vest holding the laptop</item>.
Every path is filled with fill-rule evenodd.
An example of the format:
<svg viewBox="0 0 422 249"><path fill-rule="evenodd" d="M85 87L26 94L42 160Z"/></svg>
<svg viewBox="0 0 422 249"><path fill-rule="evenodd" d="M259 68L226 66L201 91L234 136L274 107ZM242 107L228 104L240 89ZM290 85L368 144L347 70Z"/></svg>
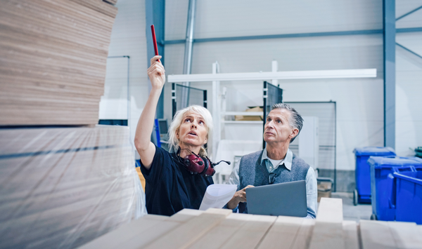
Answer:
<svg viewBox="0 0 422 249"><path fill-rule="evenodd" d="M245 191L248 187L305 180L307 218L316 217L317 189L314 169L288 148L302 126L302 116L293 107L282 103L272 107L264 126L267 147L242 156L241 163L234 168L229 184L237 184L240 190L227 203L227 208L238 208L239 213L248 213Z"/></svg>

